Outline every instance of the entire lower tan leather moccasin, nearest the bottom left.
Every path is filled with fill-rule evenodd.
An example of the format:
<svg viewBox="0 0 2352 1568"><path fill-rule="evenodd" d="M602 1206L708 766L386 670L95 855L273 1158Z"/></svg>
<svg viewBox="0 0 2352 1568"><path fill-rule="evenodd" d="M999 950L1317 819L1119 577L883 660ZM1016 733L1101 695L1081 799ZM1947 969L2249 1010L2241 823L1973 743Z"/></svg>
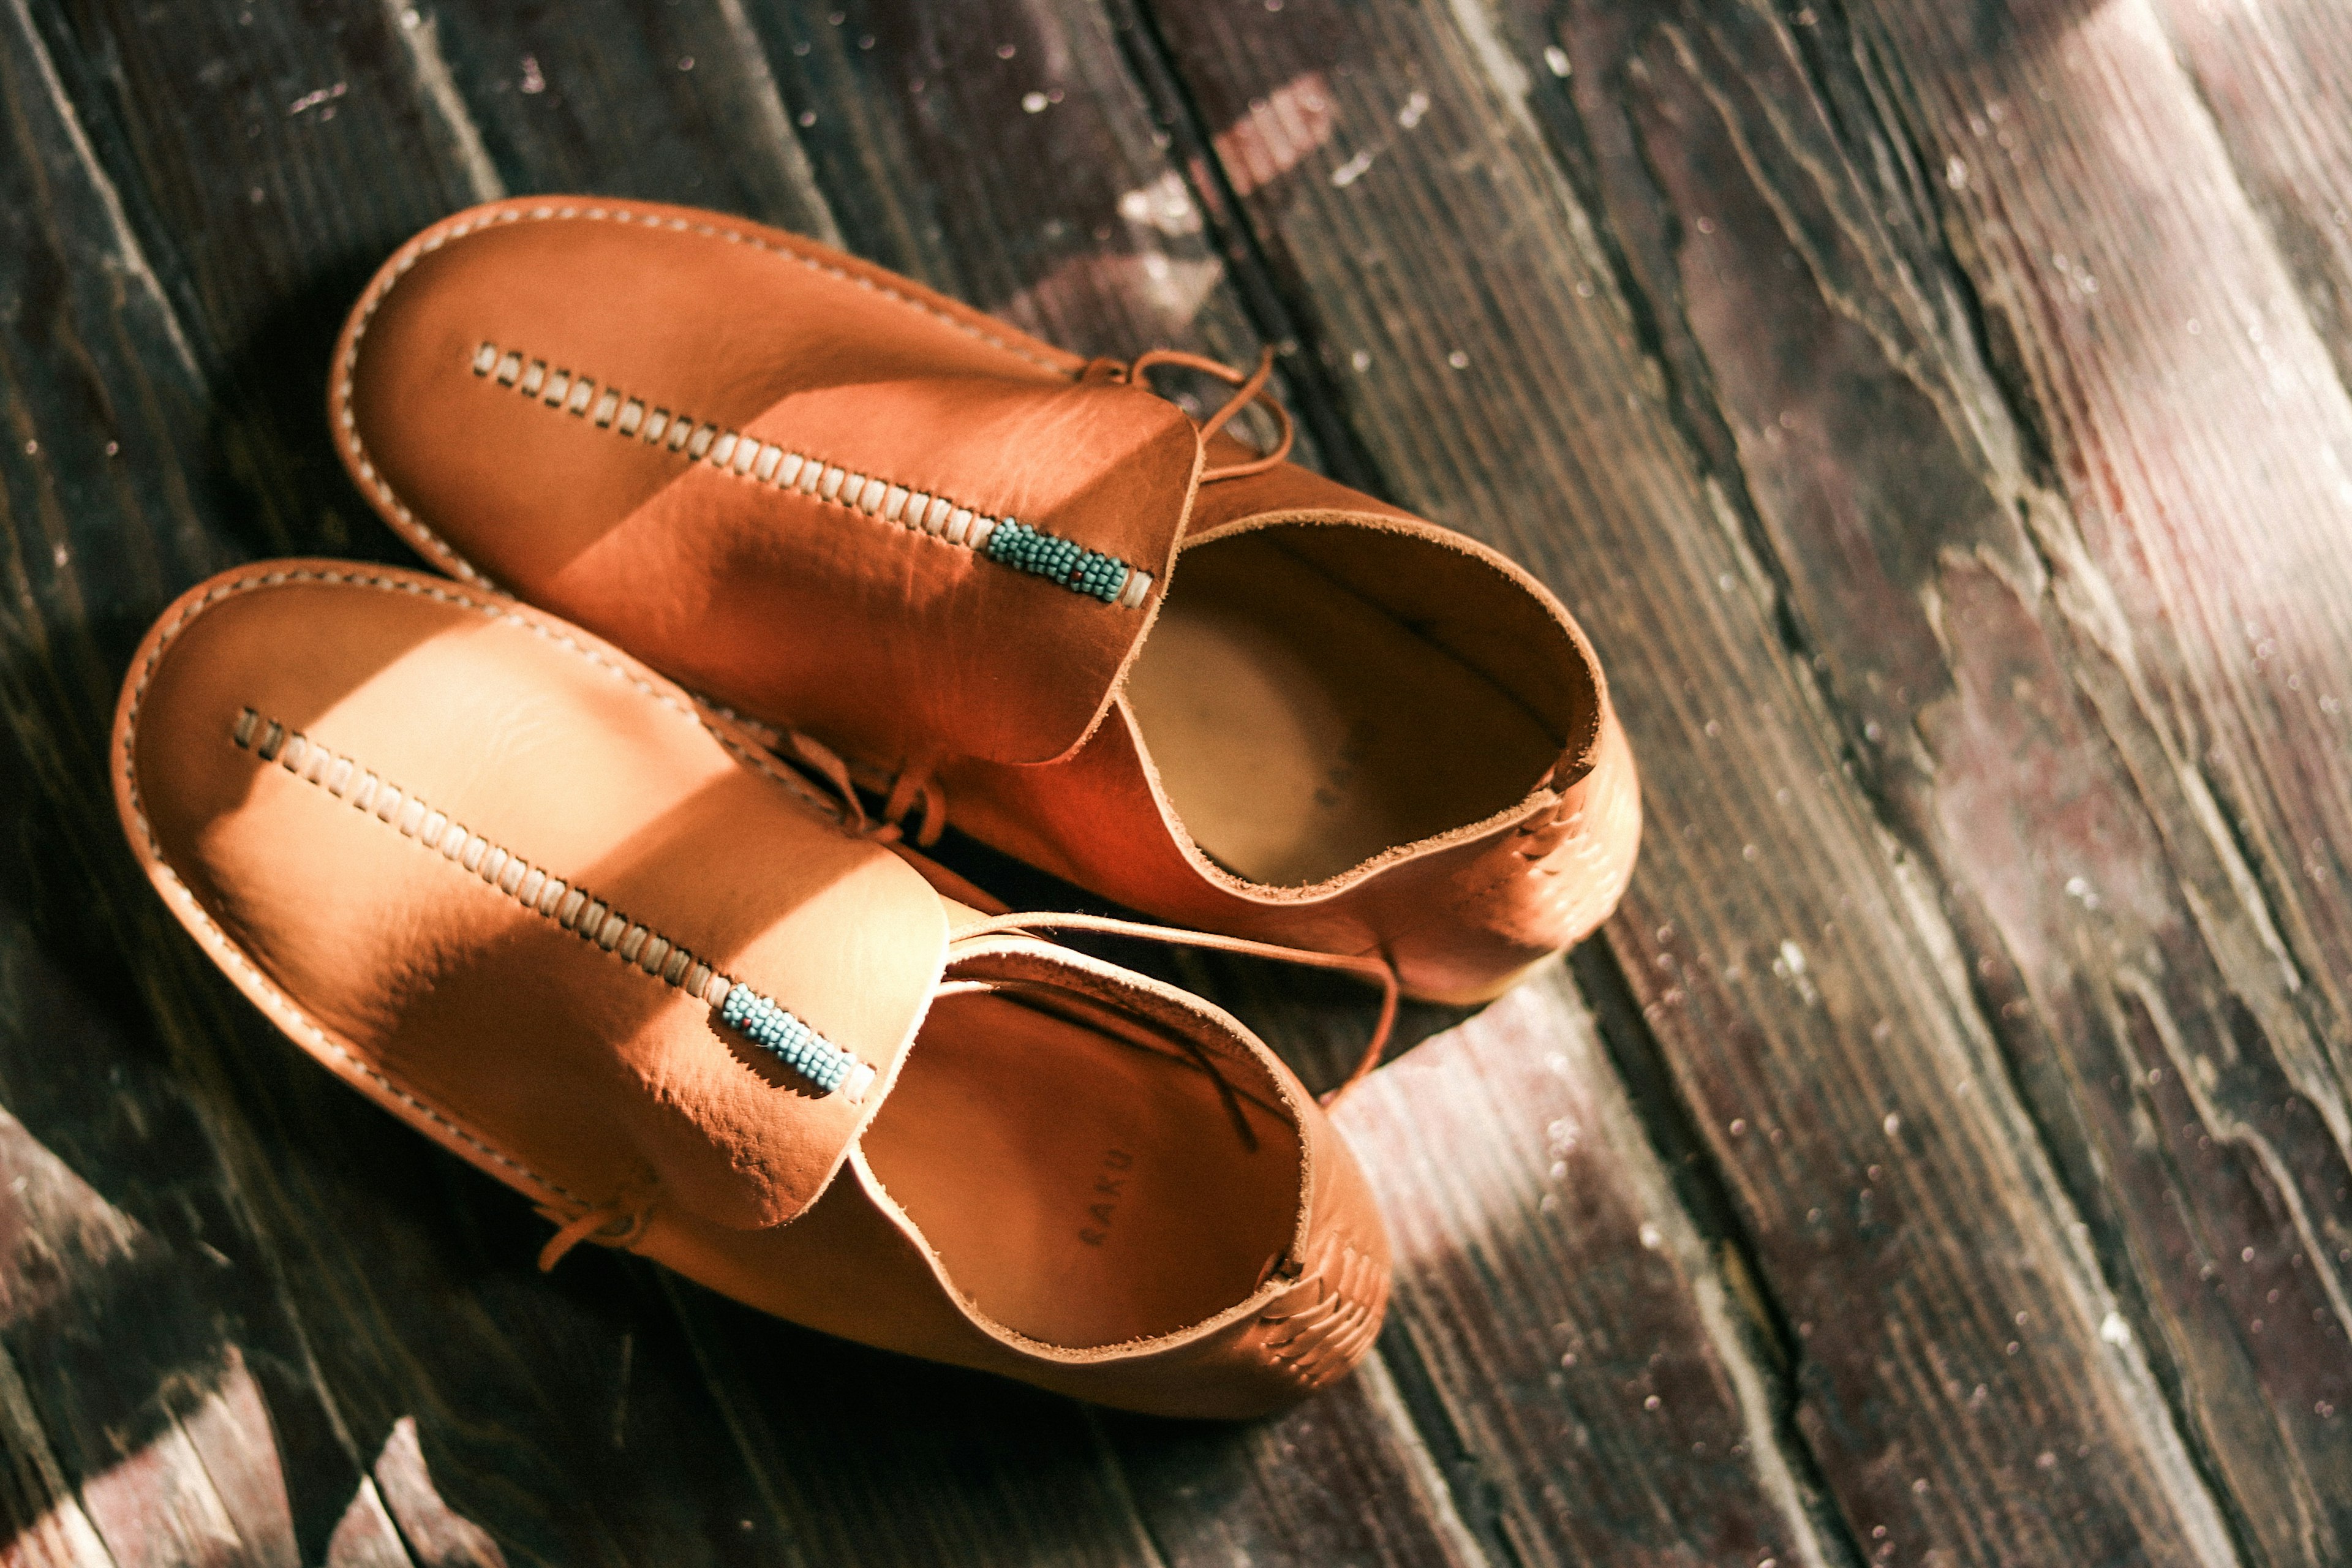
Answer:
<svg viewBox="0 0 2352 1568"><path fill-rule="evenodd" d="M983 914L597 637L273 562L115 717L134 851L294 1044L534 1199L835 1335L1251 1415L1371 1345L1388 1241L1218 1009Z"/></svg>

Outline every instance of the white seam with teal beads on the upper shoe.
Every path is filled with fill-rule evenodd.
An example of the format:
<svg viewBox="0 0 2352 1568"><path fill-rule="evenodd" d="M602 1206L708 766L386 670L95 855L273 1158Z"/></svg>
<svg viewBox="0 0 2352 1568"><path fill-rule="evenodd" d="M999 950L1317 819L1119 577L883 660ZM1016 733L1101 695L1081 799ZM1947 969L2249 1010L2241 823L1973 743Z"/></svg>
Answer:
<svg viewBox="0 0 2352 1568"><path fill-rule="evenodd" d="M1016 517L988 517L948 496L851 473L840 463L753 440L687 411L673 414L668 407L623 393L612 383L600 390L593 376L524 357L520 348L499 348L485 339L473 350L468 367L480 381L503 386L536 407L588 421L621 440L640 440L689 463L708 463L746 484L800 491L811 501L898 524L910 534L927 534L1120 609L1141 609L1152 590L1150 571L1030 529ZM1004 529L1004 538L990 550L988 543L1000 529Z"/></svg>

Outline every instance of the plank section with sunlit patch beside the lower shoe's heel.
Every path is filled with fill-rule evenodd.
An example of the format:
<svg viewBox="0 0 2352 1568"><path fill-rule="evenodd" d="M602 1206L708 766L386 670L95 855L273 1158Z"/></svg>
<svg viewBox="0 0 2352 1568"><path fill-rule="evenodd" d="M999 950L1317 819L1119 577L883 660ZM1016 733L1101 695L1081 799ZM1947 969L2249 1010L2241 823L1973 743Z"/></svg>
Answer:
<svg viewBox="0 0 2352 1568"><path fill-rule="evenodd" d="M1846 1561L1564 973L1383 1070L1341 1126L1395 1232L1397 1333L1510 1561Z"/></svg>

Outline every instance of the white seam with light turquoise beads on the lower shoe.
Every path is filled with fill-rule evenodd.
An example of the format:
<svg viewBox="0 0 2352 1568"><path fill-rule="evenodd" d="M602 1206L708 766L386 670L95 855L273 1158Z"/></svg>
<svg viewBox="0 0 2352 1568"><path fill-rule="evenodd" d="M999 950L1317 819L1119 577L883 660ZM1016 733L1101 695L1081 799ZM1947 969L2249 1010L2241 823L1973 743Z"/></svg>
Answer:
<svg viewBox="0 0 2352 1568"><path fill-rule="evenodd" d="M720 1009L720 1018L729 1027L816 1084L823 1093L849 1084L851 1100L866 1098L866 1088L873 1084L873 1067L858 1063L807 1023L776 1006L776 1001L699 959L652 926L621 914L588 889L567 884L562 877L550 877L546 867L532 865L503 844L452 820L421 795L402 790L358 757L343 757L301 731L289 731L282 722L254 708L245 708L238 715L228 738L263 764L275 762L294 778L374 816L386 827L397 827L400 837L440 851L452 865L473 872L524 910L553 919L583 943L595 943L623 964L633 964L656 980Z"/></svg>

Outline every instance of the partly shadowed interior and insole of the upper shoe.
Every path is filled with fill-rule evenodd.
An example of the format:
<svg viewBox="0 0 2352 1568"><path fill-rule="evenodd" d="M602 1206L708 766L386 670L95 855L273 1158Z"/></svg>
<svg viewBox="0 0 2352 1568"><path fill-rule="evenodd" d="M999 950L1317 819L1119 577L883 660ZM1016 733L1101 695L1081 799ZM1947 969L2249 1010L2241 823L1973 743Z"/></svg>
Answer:
<svg viewBox="0 0 2352 1568"><path fill-rule="evenodd" d="M1265 886L1503 811L1597 708L1581 649L1491 567L1334 524L1185 548L1127 698L1185 832Z"/></svg>

